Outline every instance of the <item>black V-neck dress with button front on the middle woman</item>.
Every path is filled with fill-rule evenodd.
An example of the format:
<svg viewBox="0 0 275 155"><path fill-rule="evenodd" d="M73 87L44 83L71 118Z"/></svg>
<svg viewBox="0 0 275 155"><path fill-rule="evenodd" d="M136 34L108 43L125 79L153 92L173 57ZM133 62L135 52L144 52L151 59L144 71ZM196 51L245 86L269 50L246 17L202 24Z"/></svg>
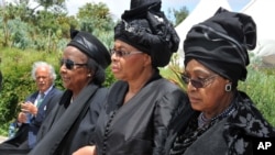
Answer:
<svg viewBox="0 0 275 155"><path fill-rule="evenodd" d="M170 118L187 100L186 93L155 75L123 103L128 82L117 81L95 131L97 155L163 155Z"/></svg>

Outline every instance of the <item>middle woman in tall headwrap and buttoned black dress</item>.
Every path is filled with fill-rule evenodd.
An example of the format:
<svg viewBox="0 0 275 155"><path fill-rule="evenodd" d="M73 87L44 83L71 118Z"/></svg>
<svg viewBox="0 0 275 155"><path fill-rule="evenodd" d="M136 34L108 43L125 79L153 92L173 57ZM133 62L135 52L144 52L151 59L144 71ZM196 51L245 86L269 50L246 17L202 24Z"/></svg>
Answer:
<svg viewBox="0 0 275 155"><path fill-rule="evenodd" d="M114 29L111 69L119 80L98 119L97 155L163 155L170 118L187 101L157 69L168 64L179 42L160 9L160 0L132 0Z"/></svg>

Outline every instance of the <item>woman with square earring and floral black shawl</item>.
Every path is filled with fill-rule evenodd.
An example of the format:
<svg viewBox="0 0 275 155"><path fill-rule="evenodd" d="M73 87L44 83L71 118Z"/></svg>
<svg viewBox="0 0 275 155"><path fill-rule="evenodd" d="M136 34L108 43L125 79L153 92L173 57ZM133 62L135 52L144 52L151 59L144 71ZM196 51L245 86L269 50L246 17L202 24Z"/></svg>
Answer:
<svg viewBox="0 0 275 155"><path fill-rule="evenodd" d="M183 75L190 108L170 128L166 155L251 155L262 137L275 137L252 100L237 89L255 43L252 18L222 8L191 27Z"/></svg>

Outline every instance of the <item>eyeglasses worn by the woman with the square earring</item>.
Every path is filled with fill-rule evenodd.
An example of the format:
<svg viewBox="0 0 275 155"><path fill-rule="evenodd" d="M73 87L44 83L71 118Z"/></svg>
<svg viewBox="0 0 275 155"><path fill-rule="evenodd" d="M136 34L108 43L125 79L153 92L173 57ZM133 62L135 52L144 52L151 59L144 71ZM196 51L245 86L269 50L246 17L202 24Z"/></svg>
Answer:
<svg viewBox="0 0 275 155"><path fill-rule="evenodd" d="M205 88L207 85L209 85L210 82L208 82L210 79L213 79L215 77L217 77L218 75L212 75L208 78L205 79L190 79L188 76L186 76L185 74L182 75L182 78L184 80L184 82L186 85L188 85L189 82L191 82L191 85L195 88Z"/></svg>

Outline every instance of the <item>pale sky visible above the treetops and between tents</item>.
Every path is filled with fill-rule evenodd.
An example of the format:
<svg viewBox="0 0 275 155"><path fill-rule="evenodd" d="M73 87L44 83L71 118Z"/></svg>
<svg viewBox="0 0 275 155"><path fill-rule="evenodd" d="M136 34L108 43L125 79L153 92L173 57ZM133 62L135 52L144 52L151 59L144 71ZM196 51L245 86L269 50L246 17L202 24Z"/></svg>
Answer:
<svg viewBox="0 0 275 155"><path fill-rule="evenodd" d="M67 9L70 15L78 12L78 8L87 2L103 2L108 5L114 18L120 18L124 10L129 10L131 0L66 0ZM162 10L180 9L186 7L190 12L200 0L162 0ZM251 0L228 0L233 11L240 11Z"/></svg>

